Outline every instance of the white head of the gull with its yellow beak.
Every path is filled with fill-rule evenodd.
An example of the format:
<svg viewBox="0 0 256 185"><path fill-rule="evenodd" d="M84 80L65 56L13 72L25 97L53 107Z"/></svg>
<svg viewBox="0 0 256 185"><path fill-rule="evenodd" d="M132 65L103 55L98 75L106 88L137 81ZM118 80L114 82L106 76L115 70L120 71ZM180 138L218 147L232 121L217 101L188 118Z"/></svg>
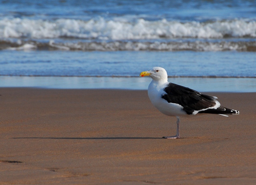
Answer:
<svg viewBox="0 0 256 185"><path fill-rule="evenodd" d="M162 67L153 67L148 71L143 71L140 73L140 77L149 76L155 81L167 81L167 72Z"/></svg>

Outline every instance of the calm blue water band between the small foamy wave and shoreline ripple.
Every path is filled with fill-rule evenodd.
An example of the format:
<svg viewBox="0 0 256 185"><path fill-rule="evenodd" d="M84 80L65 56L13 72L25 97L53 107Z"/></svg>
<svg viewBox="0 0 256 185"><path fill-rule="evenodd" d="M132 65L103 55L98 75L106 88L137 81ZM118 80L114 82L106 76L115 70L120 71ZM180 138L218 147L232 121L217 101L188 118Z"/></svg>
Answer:
<svg viewBox="0 0 256 185"><path fill-rule="evenodd" d="M0 51L1 75L138 77L161 66L173 77L256 77L254 52Z"/></svg>

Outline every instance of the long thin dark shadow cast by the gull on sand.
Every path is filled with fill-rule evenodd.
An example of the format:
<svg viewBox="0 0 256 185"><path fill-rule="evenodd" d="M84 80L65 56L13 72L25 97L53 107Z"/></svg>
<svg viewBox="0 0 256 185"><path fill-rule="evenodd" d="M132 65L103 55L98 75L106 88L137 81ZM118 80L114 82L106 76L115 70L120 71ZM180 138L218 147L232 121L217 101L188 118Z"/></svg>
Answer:
<svg viewBox="0 0 256 185"><path fill-rule="evenodd" d="M164 139L164 138L152 138L152 137L103 137L103 138L54 138L54 137L24 137L24 138L12 138L12 139L54 139L54 140L145 140L145 139ZM186 138L179 138L186 139Z"/></svg>

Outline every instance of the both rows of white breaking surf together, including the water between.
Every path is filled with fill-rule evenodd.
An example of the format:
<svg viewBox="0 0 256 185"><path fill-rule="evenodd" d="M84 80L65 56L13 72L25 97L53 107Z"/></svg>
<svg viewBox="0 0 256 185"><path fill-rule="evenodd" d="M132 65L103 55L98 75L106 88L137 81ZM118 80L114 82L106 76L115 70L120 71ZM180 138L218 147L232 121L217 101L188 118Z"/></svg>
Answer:
<svg viewBox="0 0 256 185"><path fill-rule="evenodd" d="M256 51L256 21L0 20L0 49Z"/></svg>

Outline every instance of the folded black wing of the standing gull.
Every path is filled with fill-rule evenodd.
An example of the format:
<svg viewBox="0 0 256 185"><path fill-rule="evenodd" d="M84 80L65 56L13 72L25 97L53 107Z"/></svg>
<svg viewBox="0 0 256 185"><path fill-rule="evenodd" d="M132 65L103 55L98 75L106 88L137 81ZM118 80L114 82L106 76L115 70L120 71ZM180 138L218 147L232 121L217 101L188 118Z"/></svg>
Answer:
<svg viewBox="0 0 256 185"><path fill-rule="evenodd" d="M207 109L216 105L215 97L208 96L206 94L201 94L188 87L183 87L174 83L169 83L169 85L164 88L167 94L164 94L164 98L169 103L176 103L183 106L183 110L187 114L192 114L194 110ZM222 108L222 107L220 107ZM214 109L216 111L216 109ZM201 112L201 113L213 113L213 112ZM225 114L214 112L214 114Z"/></svg>

